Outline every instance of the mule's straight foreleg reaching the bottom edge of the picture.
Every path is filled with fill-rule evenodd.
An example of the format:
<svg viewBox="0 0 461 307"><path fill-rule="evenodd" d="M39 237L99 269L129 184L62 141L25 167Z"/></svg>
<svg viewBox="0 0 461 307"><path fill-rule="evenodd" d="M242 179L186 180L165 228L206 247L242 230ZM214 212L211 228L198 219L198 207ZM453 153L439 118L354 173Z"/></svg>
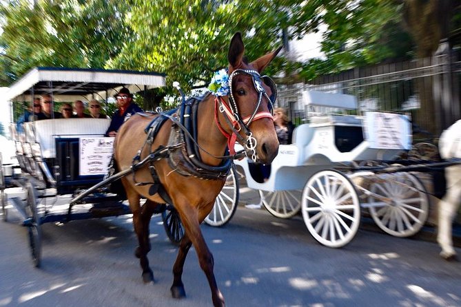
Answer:
<svg viewBox="0 0 461 307"><path fill-rule="evenodd" d="M213 204L211 204L210 206L213 206ZM209 206L205 206L205 207L209 208ZM214 277L213 255L209 251L208 246L205 243L205 239L203 238L202 231L200 229L200 221L198 220L198 212L196 212L196 209L192 209L190 207L182 207L182 208L184 209L185 212L184 214L181 214L180 212L180 214L181 214L181 220L185 227L185 233L187 234L187 237L189 237L189 240L192 242L192 244L194 244L194 248L198 256L198 262L200 264L200 267L202 268L203 272L207 276L209 288L212 291L213 305L214 306L225 306L223 294L221 293L221 290L219 290L218 285L216 284L216 279ZM178 258L176 262L178 262L179 259L180 258L178 254ZM184 264L184 260L182 262L182 265L180 266L181 272L182 272L183 264ZM180 264L178 263L178 266L179 265Z"/></svg>

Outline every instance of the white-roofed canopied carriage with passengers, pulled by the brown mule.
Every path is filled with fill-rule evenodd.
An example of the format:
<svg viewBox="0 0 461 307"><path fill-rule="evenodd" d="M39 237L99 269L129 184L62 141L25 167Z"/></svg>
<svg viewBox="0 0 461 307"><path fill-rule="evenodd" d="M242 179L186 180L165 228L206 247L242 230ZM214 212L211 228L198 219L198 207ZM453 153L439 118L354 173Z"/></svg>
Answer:
<svg viewBox="0 0 461 307"><path fill-rule="evenodd" d="M52 103L107 98L121 87L132 92L165 85L163 74L121 70L37 67L7 92L12 107L50 95ZM54 113L51 113L54 116ZM101 188L81 204L55 205L101 182L112 157L114 138L105 137L109 118L50 118L10 124L17 163L1 163L1 209L8 220L17 209L28 227L32 259L41 262L41 224L131 213L123 194ZM19 127L19 129L18 129ZM67 198L69 200L69 198Z"/></svg>

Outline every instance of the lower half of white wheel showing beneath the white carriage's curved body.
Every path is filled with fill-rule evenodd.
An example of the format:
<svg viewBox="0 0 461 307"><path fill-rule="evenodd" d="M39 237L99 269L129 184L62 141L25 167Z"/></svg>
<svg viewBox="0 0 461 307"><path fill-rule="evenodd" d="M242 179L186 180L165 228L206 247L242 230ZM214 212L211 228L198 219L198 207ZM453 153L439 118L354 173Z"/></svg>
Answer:
<svg viewBox="0 0 461 307"><path fill-rule="evenodd" d="M263 205L276 218L291 218L301 209L302 190L259 191Z"/></svg>

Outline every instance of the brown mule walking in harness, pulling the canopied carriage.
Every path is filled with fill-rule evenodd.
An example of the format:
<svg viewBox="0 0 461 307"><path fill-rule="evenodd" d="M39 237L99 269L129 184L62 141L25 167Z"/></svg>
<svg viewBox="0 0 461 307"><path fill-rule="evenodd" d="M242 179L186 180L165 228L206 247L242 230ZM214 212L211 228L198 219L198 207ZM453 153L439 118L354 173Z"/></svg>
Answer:
<svg viewBox="0 0 461 307"><path fill-rule="evenodd" d="M232 87L231 93L228 96L223 96L221 101L217 100L214 95L209 94L198 103L196 109L196 142L199 148L196 156L201 158L203 165L208 165L212 169L222 165L223 159L218 157L225 154L227 142L229 140L230 144L230 136L235 133L238 134L238 140L241 143L245 143L245 138L249 142L249 136L252 136L250 146L248 144L241 145L246 145L250 154L251 148L253 148L253 156L257 157L256 159L259 162L270 163L278 153L278 140L269 110L269 107L274 102L271 102L269 97L272 97L275 88L268 86L266 77L259 78L258 73L262 72L274 59L280 48L252 63L245 62L243 58L244 50L245 47L240 33L237 33L232 38L227 55L229 60L228 74L231 76L234 73L230 83ZM261 80L264 80L262 85L258 83ZM261 86L263 89L261 89ZM260 94L261 92L263 94ZM253 118L247 120L248 125L245 125L245 127L232 129L229 123L236 127L238 123L232 121L229 116L225 118L225 112L223 112L222 107L218 107L218 102L236 105L234 114L236 117L249 118L252 114L263 115L253 116ZM178 125L174 125L172 120L167 120L158 130L152 145L145 146L147 136L144 129L155 116L157 115L134 115L122 125L114 145L114 158L119 169L130 168L133 164L133 157L139 154L137 152L139 149L142 149L139 156L142 160L158 147L172 145L171 136L175 134L172 134L171 131L174 131ZM241 123L240 121L240 126ZM225 136L226 134L227 137ZM256 147L254 146L255 142ZM181 142L178 140L178 143ZM147 142L147 144L149 143ZM181 153L181 149L172 150L170 155L177 156ZM187 156L185 159L187 160ZM187 251L189 251L191 244L194 244L200 266L208 279L209 287L212 291L213 304L214 306L225 306L224 297L214 277L213 255L210 253L200 229L201 222L212 210L214 200L223 188L225 176L216 176L216 178L211 179L201 178L196 173L192 173L192 176L184 176L184 171L187 173L187 169L183 169L181 173L181 165L172 167L171 160L168 157L156 160L152 162L152 165L164 191L170 196L175 209L178 211L185 228L185 235L179 245L178 256L173 267L174 280L171 288L173 297L185 297L181 275ZM159 204L164 204L165 200L158 193L154 193L156 190L152 189L152 185L136 185L139 182L153 181L151 170L147 165L136 170L134 176L125 176L121 180L127 193L127 199L130 202L134 231L139 240L136 256L140 258L143 280L144 282L151 282L154 280L154 275L147 260L147 253L150 251L149 223L155 208ZM152 193L154 195L151 195ZM147 202L142 207L139 203L141 197L147 198Z"/></svg>

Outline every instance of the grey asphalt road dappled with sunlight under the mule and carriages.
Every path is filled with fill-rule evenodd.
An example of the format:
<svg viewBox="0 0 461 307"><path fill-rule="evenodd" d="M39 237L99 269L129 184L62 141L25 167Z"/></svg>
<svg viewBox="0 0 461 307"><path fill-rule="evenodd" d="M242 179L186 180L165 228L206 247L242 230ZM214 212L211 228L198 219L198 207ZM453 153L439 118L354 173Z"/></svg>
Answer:
<svg viewBox="0 0 461 307"><path fill-rule="evenodd" d="M141 280L129 215L44 224L39 269L26 229L10 218L0 222L0 306L212 306L193 248L183 273L187 297L171 297L176 247L158 215L154 284ZM202 229L227 306L461 306L461 263L441 260L432 242L361 228L344 248L327 248L300 217L243 206L227 226Z"/></svg>

